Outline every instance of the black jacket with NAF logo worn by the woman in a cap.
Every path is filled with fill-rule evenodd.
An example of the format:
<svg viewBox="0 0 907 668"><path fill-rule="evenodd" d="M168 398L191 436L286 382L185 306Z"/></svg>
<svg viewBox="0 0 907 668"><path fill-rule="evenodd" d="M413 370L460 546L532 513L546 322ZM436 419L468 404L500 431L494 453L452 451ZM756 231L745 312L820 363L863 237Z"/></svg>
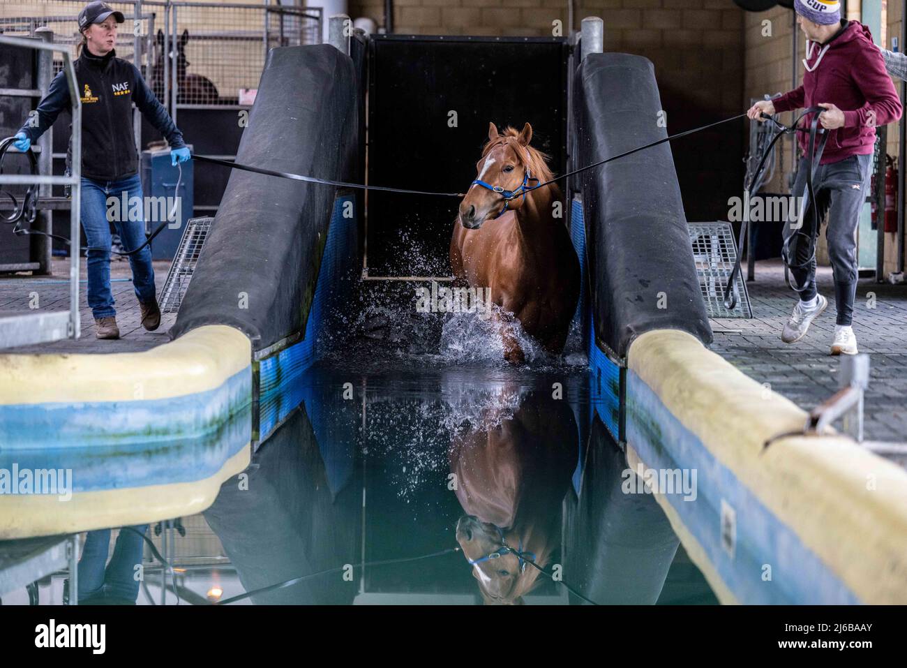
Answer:
<svg viewBox="0 0 907 668"><path fill-rule="evenodd" d="M170 114L151 93L135 65L117 58L113 51L99 57L83 48L73 69L82 100L83 176L96 181L118 181L138 172L132 103L167 138L171 148L186 145ZM36 142L69 105L69 87L61 72L38 105L36 120L26 122L20 132Z"/></svg>

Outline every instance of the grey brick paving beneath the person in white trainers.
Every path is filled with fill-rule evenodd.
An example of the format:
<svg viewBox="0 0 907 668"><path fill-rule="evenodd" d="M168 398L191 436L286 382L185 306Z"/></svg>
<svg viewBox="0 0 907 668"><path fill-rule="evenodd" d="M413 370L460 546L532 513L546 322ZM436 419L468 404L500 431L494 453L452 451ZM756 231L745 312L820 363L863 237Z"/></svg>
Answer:
<svg viewBox="0 0 907 668"><path fill-rule="evenodd" d="M785 287L780 260L756 263L756 281L747 283L753 319L715 319L712 349L760 383L805 409L814 408L838 388L840 359L828 354L834 336L832 272L820 268L819 291L828 309L814 321L804 339L781 341L781 329L796 303ZM869 353L871 380L865 398L865 437L907 441L907 285L860 280L853 307L853 332L861 352Z"/></svg>

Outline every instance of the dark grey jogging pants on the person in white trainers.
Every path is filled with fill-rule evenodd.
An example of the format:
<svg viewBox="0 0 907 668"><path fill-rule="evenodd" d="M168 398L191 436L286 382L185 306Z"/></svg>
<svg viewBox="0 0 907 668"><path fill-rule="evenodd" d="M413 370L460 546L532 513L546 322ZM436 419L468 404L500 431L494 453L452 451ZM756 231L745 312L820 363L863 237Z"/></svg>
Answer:
<svg viewBox="0 0 907 668"><path fill-rule="evenodd" d="M853 299L856 296L857 258L856 229L863 211L863 201L869 192L872 155L852 155L839 162L820 164L813 178L813 190L818 208L819 221L828 214L825 239L828 240L828 254L834 272L834 301L838 310L837 324L850 325L853 319ZM813 206L806 192L806 170L808 163L800 161L794 184L794 194L801 196L805 211L803 225L797 229L797 221L787 221L784 230L785 248L793 257L785 255L788 265L795 265L791 274L795 290L801 300L812 300L815 290L815 259L810 258L809 235L817 224L814 221ZM795 236L792 240L791 237ZM788 241L790 240L790 241Z"/></svg>

